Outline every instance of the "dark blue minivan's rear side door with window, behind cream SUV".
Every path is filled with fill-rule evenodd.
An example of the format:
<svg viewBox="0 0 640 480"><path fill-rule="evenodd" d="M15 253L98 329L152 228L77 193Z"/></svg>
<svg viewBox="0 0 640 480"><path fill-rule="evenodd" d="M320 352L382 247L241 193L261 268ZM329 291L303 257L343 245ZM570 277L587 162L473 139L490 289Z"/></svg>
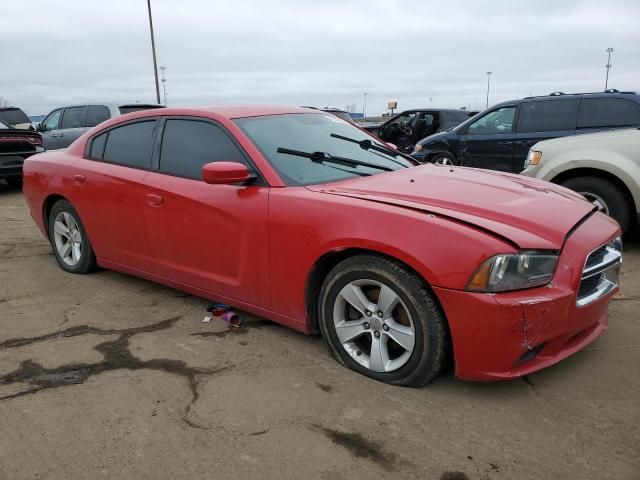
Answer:
<svg viewBox="0 0 640 480"><path fill-rule="evenodd" d="M542 140L576 133L579 98L522 102L513 148L513 172L524 169L529 149Z"/></svg>

